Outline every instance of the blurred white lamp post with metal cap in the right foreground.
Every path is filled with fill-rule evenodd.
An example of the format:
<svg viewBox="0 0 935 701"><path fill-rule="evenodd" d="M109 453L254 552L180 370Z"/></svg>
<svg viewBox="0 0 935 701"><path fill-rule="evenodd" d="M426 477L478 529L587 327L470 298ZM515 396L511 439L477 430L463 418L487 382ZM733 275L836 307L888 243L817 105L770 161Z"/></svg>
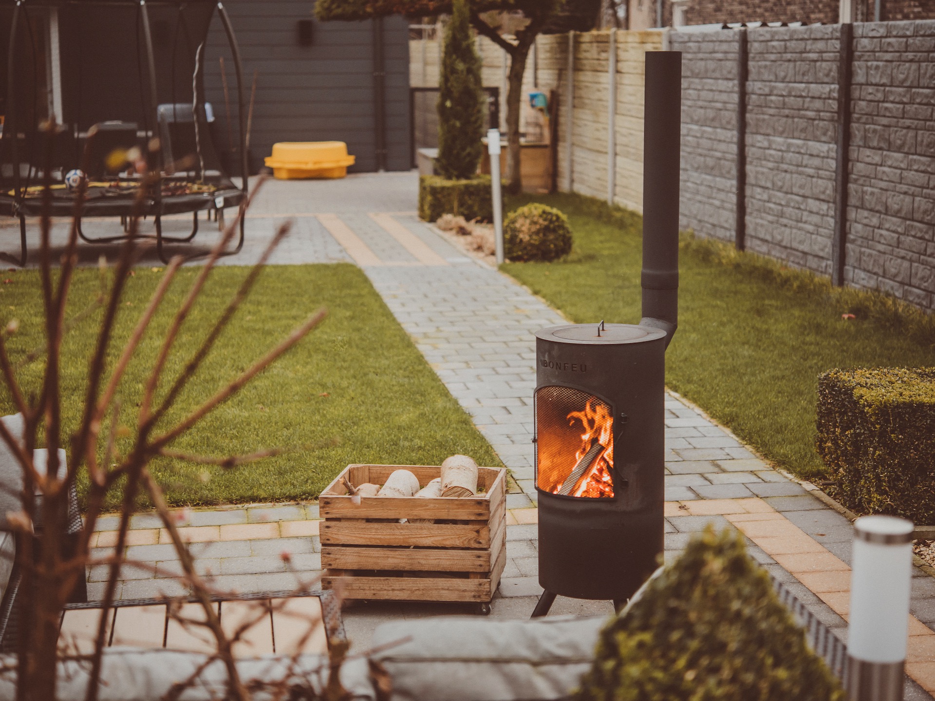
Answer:
<svg viewBox="0 0 935 701"><path fill-rule="evenodd" d="M847 692L852 701L901 701L909 635L913 522L854 522Z"/></svg>

